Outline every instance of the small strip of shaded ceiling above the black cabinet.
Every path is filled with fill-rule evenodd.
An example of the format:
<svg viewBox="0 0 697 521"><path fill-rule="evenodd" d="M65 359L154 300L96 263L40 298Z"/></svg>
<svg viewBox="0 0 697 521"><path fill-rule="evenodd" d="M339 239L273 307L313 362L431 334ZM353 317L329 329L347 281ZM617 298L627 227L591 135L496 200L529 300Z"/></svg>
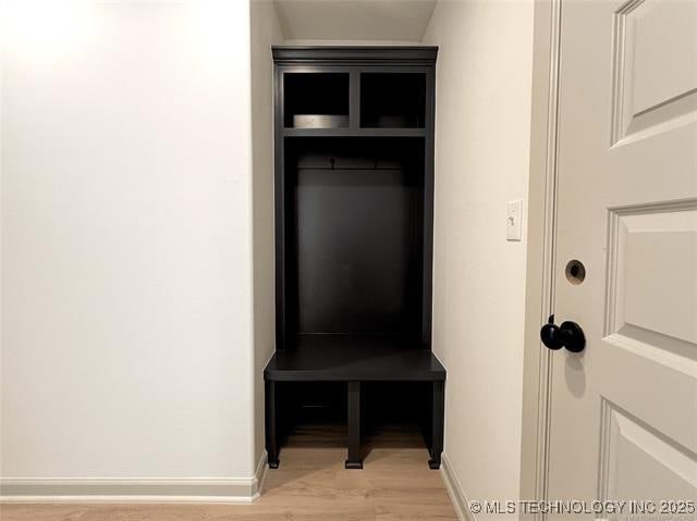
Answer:
<svg viewBox="0 0 697 521"><path fill-rule="evenodd" d="M420 41L436 0L274 0L289 40Z"/></svg>

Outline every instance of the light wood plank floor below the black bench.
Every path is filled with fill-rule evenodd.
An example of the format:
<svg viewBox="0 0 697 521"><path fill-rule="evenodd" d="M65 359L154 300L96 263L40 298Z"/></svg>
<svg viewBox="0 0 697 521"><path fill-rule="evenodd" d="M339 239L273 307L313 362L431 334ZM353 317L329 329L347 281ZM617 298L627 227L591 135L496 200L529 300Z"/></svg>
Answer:
<svg viewBox="0 0 697 521"><path fill-rule="evenodd" d="M2 521L334 521L457 519L415 432L366 443L363 470L345 470L343 430L299 429L253 505L2 505Z"/></svg>

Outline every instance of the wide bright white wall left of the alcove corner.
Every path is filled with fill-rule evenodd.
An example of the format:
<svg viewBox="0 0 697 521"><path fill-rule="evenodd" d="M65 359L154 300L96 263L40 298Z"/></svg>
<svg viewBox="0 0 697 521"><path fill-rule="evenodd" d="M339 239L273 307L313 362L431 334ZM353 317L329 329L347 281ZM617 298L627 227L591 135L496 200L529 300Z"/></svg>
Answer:
<svg viewBox="0 0 697 521"><path fill-rule="evenodd" d="M2 476L252 476L247 2L12 3Z"/></svg>

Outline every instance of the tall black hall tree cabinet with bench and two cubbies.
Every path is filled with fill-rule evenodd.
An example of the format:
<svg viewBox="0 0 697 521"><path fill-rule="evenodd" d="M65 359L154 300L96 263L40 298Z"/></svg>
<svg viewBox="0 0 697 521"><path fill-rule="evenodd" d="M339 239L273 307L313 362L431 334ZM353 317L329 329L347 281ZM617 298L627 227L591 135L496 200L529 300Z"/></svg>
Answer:
<svg viewBox="0 0 697 521"><path fill-rule="evenodd" d="M362 384L419 382L431 468L445 370L431 352L435 47L274 47L277 351L265 369L269 466L283 388L345 385L360 468ZM409 395L412 396L412 395Z"/></svg>

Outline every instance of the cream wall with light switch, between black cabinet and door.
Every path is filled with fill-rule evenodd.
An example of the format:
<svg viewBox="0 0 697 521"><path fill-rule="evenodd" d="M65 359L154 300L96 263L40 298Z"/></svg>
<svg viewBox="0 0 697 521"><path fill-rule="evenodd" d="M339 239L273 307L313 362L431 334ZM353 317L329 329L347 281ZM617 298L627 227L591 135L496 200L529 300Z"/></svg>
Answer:
<svg viewBox="0 0 697 521"><path fill-rule="evenodd" d="M433 345L445 463L468 499L519 489L526 244L504 226L506 201L527 195L533 9L441 1L424 39L440 46Z"/></svg>

